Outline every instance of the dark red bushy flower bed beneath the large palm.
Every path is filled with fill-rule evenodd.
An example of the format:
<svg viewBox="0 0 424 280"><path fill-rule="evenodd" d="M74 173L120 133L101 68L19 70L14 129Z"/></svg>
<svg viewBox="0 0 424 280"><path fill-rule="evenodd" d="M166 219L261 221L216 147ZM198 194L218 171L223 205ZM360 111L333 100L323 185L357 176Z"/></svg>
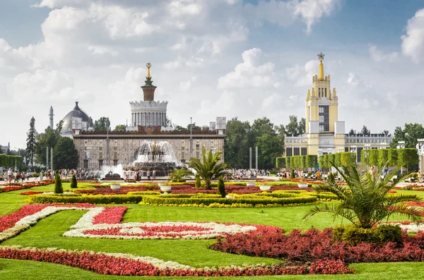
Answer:
<svg viewBox="0 0 424 280"><path fill-rule="evenodd" d="M273 226L257 226L257 231L224 235L211 248L222 252L255 257L283 258L288 261L314 262L342 260L353 262L422 262L424 260L424 232L408 236L404 231L404 245L396 243L349 245L332 243L333 229L310 229L302 233L293 230L288 235Z"/></svg>

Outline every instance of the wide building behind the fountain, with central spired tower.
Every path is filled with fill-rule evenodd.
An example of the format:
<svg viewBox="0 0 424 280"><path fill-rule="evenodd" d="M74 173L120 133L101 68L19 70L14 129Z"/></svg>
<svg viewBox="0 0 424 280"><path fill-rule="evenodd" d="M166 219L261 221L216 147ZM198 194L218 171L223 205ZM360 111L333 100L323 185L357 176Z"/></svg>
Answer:
<svg viewBox="0 0 424 280"><path fill-rule="evenodd" d="M79 154L79 167L100 169L104 165L131 165L137 159L141 147L146 147L146 142L169 143L167 147L172 147L175 159L182 163L188 162L191 157L200 159L202 147L213 152L224 152L225 117L216 118L216 124L211 125L209 131L194 130L190 133L175 131L167 126L167 102L154 100L156 87L151 80L151 64L148 63L147 67L146 84L141 87L144 98L129 103L131 124L126 126L126 131L90 131L87 128L65 126L64 123L64 129L72 131L73 143Z"/></svg>

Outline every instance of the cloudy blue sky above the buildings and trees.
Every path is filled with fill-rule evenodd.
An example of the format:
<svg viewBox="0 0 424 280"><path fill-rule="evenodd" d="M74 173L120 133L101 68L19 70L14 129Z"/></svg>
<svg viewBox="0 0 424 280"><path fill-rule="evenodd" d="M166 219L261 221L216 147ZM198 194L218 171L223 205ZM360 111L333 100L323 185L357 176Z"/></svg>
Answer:
<svg viewBox="0 0 424 280"><path fill-rule="evenodd" d="M346 133L423 123L421 0L0 1L0 145L25 147L33 116L41 133L76 101L125 124L148 62L172 123L286 125L320 52Z"/></svg>

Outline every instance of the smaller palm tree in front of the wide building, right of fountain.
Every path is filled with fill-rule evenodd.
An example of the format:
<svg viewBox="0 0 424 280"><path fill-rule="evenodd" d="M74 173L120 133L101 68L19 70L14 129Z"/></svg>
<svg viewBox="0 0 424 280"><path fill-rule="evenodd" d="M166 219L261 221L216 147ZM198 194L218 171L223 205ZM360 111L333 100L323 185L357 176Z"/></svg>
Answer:
<svg viewBox="0 0 424 280"><path fill-rule="evenodd" d="M212 150L206 152L205 147L201 148L201 158L192 158L189 160L189 167L194 169L200 178L205 182L205 189L211 190L211 181L223 175L227 164L220 163L222 152L212 153Z"/></svg>

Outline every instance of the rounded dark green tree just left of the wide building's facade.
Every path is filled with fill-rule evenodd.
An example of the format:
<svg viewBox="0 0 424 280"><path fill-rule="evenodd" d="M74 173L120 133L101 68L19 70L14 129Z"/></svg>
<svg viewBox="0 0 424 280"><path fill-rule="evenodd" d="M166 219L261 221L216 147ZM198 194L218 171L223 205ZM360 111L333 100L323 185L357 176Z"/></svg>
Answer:
<svg viewBox="0 0 424 280"><path fill-rule="evenodd" d="M55 169L76 169L78 166L78 151L71 138L59 138L53 149L53 157Z"/></svg>

